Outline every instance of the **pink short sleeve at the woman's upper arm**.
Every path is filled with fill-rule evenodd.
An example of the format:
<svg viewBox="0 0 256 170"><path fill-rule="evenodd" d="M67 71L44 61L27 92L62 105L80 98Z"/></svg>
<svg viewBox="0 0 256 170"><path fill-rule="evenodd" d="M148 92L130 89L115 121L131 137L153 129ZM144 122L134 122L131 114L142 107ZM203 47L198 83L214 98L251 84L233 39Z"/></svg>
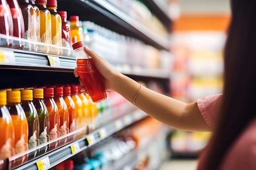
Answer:
<svg viewBox="0 0 256 170"><path fill-rule="evenodd" d="M197 100L198 108L205 122L212 129L215 127L216 113L220 109L222 94L209 95Z"/></svg>

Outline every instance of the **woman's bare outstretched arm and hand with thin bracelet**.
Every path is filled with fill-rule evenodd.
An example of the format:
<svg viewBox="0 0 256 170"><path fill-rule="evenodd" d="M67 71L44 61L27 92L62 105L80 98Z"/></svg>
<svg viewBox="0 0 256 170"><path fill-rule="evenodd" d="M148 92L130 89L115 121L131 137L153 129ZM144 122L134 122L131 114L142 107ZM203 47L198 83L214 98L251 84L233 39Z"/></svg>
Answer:
<svg viewBox="0 0 256 170"><path fill-rule="evenodd" d="M94 51L86 48L84 50L92 57L103 76L106 90L115 91L133 103L140 84L116 71L115 68ZM79 76L76 69L74 75L76 77ZM80 84L83 85L81 81ZM84 86L80 90L85 91ZM186 104L142 87L135 99L135 106L172 128L188 131L211 131L211 128L204 121L196 102Z"/></svg>

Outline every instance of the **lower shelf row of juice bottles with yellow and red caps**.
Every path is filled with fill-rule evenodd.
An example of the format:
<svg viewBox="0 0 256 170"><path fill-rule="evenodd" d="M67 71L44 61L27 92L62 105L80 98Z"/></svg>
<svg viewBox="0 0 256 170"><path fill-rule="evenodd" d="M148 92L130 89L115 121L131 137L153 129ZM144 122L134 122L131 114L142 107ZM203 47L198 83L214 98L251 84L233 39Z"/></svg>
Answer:
<svg viewBox="0 0 256 170"><path fill-rule="evenodd" d="M1 89L0 159L14 156L10 167L19 166L84 137L129 108L114 92L94 103L76 84Z"/></svg>

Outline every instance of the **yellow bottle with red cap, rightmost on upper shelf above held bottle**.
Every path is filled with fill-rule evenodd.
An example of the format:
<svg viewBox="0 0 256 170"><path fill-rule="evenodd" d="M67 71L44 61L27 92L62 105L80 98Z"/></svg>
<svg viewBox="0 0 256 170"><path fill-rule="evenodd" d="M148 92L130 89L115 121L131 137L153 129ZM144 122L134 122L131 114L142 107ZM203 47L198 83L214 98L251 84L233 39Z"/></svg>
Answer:
<svg viewBox="0 0 256 170"><path fill-rule="evenodd" d="M70 16L70 33L71 33L71 44L76 42L83 42L84 34L83 29L79 25L79 16L72 15Z"/></svg>

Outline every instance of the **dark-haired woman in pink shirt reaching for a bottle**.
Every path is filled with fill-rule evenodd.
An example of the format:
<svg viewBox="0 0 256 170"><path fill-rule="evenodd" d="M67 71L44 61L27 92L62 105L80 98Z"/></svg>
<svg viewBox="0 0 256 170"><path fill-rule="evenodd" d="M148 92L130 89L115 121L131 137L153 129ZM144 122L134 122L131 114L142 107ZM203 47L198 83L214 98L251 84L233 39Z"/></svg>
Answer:
<svg viewBox="0 0 256 170"><path fill-rule="evenodd" d="M223 95L185 104L156 93L116 71L85 48L116 91L148 115L180 130L213 131L199 158L198 170L256 169L256 10L254 0L231 0L232 19L225 45ZM74 75L78 77L76 69ZM81 85L83 85L81 83ZM84 86L81 91L85 91Z"/></svg>

